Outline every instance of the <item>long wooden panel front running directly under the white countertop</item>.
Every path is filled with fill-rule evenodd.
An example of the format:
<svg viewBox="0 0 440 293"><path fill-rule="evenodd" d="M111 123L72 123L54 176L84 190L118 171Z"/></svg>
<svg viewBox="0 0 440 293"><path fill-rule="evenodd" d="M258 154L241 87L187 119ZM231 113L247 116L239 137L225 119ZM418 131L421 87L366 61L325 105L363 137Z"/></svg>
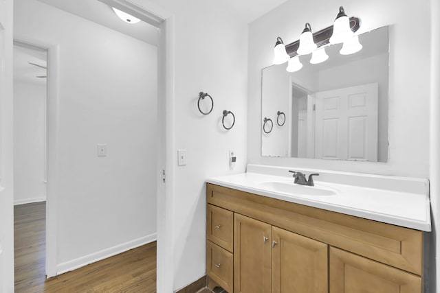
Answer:
<svg viewBox="0 0 440 293"><path fill-rule="evenodd" d="M423 274L423 232L208 184L208 203L389 266Z"/></svg>

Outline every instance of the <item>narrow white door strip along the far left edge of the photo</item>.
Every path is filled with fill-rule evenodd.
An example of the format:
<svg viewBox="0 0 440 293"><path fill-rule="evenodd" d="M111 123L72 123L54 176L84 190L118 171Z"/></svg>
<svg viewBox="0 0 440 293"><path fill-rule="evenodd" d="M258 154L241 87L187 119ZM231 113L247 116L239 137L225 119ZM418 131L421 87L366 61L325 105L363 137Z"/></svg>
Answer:
<svg viewBox="0 0 440 293"><path fill-rule="evenodd" d="M0 1L0 292L14 292L12 9Z"/></svg>

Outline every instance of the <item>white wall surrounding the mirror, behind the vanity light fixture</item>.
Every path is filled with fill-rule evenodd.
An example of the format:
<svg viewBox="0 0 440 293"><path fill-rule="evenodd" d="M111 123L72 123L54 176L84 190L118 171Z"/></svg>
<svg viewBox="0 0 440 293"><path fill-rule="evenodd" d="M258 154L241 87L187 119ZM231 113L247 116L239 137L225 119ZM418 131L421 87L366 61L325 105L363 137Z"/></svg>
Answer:
<svg viewBox="0 0 440 293"><path fill-rule="evenodd" d="M421 1L287 1L250 24L248 66L248 163L334 169L349 172L428 178L430 3ZM277 36L299 38L304 23L315 30L332 25L340 5L362 20L360 33L391 25L388 163L360 163L261 156L261 69L272 63ZM399 9L396 9L398 7ZM282 21L281 21L282 20ZM426 23L419 30L420 23ZM415 54L417 52L417 54Z"/></svg>

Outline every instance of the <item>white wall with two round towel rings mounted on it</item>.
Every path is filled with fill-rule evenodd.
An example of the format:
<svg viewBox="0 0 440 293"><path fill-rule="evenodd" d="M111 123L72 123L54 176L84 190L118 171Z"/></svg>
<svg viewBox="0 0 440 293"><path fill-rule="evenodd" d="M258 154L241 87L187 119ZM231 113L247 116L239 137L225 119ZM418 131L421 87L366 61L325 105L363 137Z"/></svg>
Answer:
<svg viewBox="0 0 440 293"><path fill-rule="evenodd" d="M206 274L206 184L208 177L245 171L247 125L247 24L225 11L221 2L204 0L136 0L154 2L174 14L174 190L173 253L175 290ZM214 110L197 110L200 91L212 95ZM221 126L223 110L232 110L232 130ZM259 124L259 122L256 122ZM260 124L259 124L260 125ZM259 132L260 133L260 132ZM177 149L188 164L177 166ZM237 156L229 169L228 150Z"/></svg>

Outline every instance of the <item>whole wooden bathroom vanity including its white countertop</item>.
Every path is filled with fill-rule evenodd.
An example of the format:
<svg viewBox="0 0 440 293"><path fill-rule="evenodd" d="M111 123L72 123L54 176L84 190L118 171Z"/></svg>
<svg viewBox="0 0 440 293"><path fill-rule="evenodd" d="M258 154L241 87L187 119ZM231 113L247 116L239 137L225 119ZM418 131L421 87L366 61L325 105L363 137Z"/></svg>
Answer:
<svg viewBox="0 0 440 293"><path fill-rule="evenodd" d="M423 292L423 231L430 231L427 180L321 172L324 180L345 178L358 185L317 180L316 187L298 187L292 176L279 176L285 168L272 174L252 171L261 166L208 180L211 288ZM371 184L380 188L362 186Z"/></svg>

